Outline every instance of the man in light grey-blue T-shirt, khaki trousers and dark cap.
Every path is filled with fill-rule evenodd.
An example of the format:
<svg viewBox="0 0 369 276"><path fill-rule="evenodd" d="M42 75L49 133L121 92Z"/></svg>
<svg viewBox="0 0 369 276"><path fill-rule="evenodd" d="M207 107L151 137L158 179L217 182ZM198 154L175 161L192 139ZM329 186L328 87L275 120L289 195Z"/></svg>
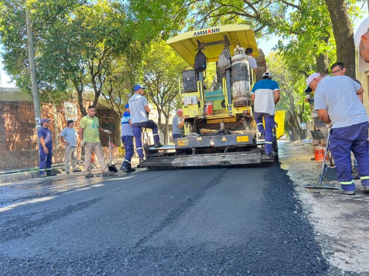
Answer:
<svg viewBox="0 0 369 276"><path fill-rule="evenodd" d="M74 121L68 120L67 127L59 134L59 140L65 145L65 172L70 174L70 164L72 162L72 172L78 173L82 170L77 168L77 131L74 128ZM70 160L72 158L72 160Z"/></svg>

